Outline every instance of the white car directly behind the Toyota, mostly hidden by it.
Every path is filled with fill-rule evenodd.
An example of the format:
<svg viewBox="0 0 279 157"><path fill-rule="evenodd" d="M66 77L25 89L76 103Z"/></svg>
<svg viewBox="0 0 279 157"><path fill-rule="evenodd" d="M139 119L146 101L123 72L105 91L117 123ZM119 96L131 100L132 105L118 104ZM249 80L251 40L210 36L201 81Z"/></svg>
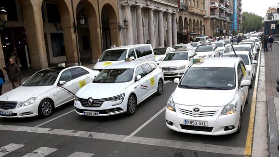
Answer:
<svg viewBox="0 0 279 157"><path fill-rule="evenodd" d="M235 47L234 47L234 49L235 49ZM253 86L252 81L255 76L255 64L257 64L258 61L253 60L252 54L248 51L235 51L235 53L236 53L237 57L242 58L242 60L244 61L244 64L248 71L249 80L251 82L251 85L249 86L249 88L251 88ZM234 52L230 52L230 51L225 51L225 53L222 56L223 57L236 57Z"/></svg>

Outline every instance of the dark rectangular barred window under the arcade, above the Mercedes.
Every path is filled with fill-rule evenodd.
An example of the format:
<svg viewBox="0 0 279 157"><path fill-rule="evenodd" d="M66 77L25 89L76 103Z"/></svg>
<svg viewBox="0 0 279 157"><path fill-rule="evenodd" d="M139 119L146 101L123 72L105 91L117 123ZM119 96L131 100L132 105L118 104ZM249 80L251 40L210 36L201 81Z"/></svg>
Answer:
<svg viewBox="0 0 279 157"><path fill-rule="evenodd" d="M52 56L60 57L65 55L63 33L50 33Z"/></svg>

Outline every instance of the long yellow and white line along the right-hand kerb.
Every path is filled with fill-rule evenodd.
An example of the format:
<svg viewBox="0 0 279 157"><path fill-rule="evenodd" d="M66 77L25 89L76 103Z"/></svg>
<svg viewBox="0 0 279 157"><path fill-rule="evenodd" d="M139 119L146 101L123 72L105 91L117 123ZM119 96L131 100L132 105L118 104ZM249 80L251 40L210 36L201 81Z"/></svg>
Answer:
<svg viewBox="0 0 279 157"><path fill-rule="evenodd" d="M255 123L255 111L256 111L256 101L257 101L257 90L258 90L258 82L259 82L261 55L262 55L262 46L260 48L259 55L258 55L256 80L255 80L255 86L254 86L254 90L253 90L249 125L248 125L248 131L247 131L247 136L246 136L246 144L245 144L245 156L246 157L250 157L252 154L252 142L253 142L253 132L254 132L254 123Z"/></svg>

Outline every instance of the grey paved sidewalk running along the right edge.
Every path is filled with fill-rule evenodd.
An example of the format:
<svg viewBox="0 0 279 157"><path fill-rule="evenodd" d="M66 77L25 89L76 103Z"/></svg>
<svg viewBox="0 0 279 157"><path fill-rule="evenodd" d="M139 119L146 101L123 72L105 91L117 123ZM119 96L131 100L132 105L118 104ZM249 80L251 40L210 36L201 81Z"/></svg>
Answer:
<svg viewBox="0 0 279 157"><path fill-rule="evenodd" d="M273 51L264 52L265 88L268 118L269 157L279 157L279 41L273 43Z"/></svg>

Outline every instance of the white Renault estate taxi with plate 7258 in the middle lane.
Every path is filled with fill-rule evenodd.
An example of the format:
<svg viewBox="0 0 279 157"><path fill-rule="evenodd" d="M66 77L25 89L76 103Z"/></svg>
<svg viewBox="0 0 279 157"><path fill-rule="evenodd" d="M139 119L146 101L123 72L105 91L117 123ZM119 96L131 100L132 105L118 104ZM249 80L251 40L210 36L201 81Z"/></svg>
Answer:
<svg viewBox="0 0 279 157"><path fill-rule="evenodd" d="M132 115L152 94L162 94L164 75L155 62L130 61L108 66L76 94L75 110L84 116Z"/></svg>

